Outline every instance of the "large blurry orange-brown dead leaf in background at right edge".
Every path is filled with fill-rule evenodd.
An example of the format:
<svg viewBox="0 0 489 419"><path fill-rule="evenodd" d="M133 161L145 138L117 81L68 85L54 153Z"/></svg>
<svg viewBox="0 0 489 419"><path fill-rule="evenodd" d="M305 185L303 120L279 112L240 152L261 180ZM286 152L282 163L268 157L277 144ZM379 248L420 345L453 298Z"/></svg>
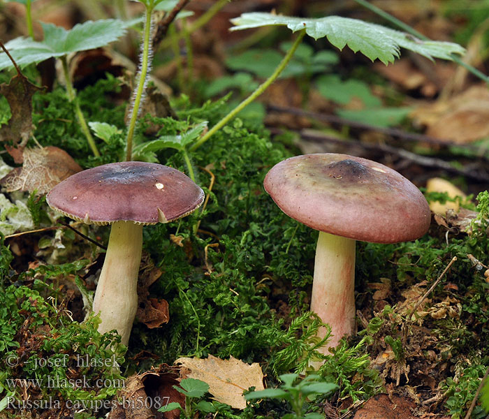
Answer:
<svg viewBox="0 0 489 419"><path fill-rule="evenodd" d="M448 99L421 106L411 112L426 134L439 140L466 144L489 135L489 91L478 84Z"/></svg>

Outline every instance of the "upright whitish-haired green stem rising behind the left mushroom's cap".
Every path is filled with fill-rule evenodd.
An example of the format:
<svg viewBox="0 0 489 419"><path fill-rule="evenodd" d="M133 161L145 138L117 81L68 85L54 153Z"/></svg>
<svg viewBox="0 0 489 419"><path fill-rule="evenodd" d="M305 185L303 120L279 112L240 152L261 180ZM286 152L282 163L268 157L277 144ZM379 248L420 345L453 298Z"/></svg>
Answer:
<svg viewBox="0 0 489 419"><path fill-rule="evenodd" d="M138 87L136 89L133 107L131 113L131 119L129 121L129 131L126 138L126 161L131 161L133 156L133 136L134 129L136 128L136 122L139 114L139 107L141 103L141 98L143 98L143 93L146 86L146 76L149 67L149 37L151 35L151 17L153 8L151 6L146 7L146 21L145 21L145 34L143 41L143 57L141 57L140 71L138 79Z"/></svg>

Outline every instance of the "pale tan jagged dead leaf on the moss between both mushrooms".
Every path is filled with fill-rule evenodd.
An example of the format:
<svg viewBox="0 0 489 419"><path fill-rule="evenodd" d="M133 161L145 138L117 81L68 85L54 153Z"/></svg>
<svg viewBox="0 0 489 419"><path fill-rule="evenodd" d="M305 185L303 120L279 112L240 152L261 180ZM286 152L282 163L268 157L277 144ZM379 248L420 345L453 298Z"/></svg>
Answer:
<svg viewBox="0 0 489 419"><path fill-rule="evenodd" d="M182 378L196 378L209 385L209 392L218 402L229 404L234 409L245 409L242 393L250 387L263 390L263 372L257 362L249 365L236 358L221 360L209 358L178 358Z"/></svg>

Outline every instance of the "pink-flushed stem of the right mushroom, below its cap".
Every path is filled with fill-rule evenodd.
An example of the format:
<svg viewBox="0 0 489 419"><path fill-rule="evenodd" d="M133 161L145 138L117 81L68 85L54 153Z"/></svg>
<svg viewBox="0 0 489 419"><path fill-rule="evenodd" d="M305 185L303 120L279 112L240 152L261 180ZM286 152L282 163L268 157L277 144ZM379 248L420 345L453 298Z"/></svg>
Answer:
<svg viewBox="0 0 489 419"><path fill-rule="evenodd" d="M331 326L328 344L321 352L337 346L355 326L355 240L319 232L314 263L311 310ZM326 336L321 328L318 336Z"/></svg>

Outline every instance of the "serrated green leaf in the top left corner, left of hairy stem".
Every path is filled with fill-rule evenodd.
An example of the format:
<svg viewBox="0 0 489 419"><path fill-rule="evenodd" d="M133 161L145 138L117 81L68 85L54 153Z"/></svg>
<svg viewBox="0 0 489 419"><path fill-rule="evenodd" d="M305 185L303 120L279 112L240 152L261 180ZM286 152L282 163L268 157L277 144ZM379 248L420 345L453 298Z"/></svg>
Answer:
<svg viewBox="0 0 489 419"><path fill-rule="evenodd" d="M44 41L15 38L6 43L7 50L19 66L38 63L51 57L62 57L71 52L103 47L117 41L126 31L126 23L117 19L76 24L69 31L51 23L41 22L41 25L44 31ZM0 54L0 70L11 66L13 64L6 54Z"/></svg>

